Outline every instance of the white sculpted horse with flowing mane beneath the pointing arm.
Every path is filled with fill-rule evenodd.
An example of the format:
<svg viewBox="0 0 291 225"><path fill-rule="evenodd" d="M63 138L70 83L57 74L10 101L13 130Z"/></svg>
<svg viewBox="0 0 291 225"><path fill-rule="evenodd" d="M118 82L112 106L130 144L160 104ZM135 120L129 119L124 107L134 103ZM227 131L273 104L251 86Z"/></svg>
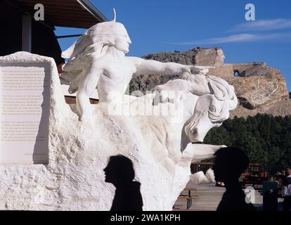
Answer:
<svg viewBox="0 0 291 225"><path fill-rule="evenodd" d="M195 75L195 77L199 79L174 79L157 86L155 89L162 95L160 99L166 99L168 102L162 101L152 105L155 94L148 94L131 102L131 107L135 108L135 117L141 115L139 116L141 120L155 127L150 133L155 134L155 137L160 134L160 139L166 140L163 144L169 153L178 154L178 150L183 152L186 148L191 148L194 153L197 153L194 159L199 162L211 158L213 152L209 154L205 148L205 155L203 155L199 153L200 149L195 150L193 143L202 143L210 129L220 127L222 122L228 119L229 111L235 109L238 100L233 86L224 79L204 75ZM200 93L197 94L197 86L200 84L202 86L203 83L207 84L205 89L200 88ZM169 93L172 93L170 91L175 91L172 95L173 101L169 99ZM153 114L157 116L143 114L147 105L151 105ZM155 113L155 110L162 113ZM159 124L159 120L162 121L160 123L162 125ZM161 137L161 134L164 136ZM149 143L151 142L149 140ZM179 157L177 159L179 160Z"/></svg>

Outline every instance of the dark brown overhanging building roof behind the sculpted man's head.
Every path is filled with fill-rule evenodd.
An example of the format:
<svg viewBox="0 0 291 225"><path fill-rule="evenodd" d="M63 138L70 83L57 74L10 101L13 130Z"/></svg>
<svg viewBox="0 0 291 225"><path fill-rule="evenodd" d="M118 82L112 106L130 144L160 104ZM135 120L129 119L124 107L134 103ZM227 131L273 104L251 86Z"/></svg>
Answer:
<svg viewBox="0 0 291 225"><path fill-rule="evenodd" d="M35 4L44 5L44 21L50 27L89 28L108 21L88 0L18 0L10 1L22 11L34 15Z"/></svg>

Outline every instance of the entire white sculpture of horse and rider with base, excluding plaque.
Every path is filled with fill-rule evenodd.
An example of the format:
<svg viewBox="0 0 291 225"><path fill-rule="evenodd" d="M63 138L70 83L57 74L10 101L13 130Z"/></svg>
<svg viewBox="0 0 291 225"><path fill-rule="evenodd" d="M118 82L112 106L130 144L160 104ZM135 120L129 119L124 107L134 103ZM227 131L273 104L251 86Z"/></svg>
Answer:
<svg viewBox="0 0 291 225"><path fill-rule="evenodd" d="M51 65L49 162L0 165L0 210L110 210L115 186L105 182L103 169L119 154L134 164L143 210L172 210L190 179L198 184L214 181L211 171L191 175L190 163L212 158L222 147L200 142L237 105L233 86L205 76L207 67L191 75L190 66L125 57L130 42L122 24L105 22L91 27L63 53L70 60L62 77L70 91L78 91L77 105L70 106L53 58L25 52L0 57L4 63ZM109 98L110 91L125 96L133 75L155 73L181 74L183 79L156 86L161 96L157 102L157 93L130 101L130 115L108 113L115 100ZM90 105L96 87L101 103ZM153 115L144 113L145 108Z"/></svg>

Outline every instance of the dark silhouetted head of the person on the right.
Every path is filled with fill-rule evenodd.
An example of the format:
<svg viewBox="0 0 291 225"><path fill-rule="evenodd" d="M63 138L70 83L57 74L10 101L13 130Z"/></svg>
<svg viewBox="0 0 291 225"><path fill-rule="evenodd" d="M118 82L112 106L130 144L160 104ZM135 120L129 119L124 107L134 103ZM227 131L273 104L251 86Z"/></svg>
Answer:
<svg viewBox="0 0 291 225"><path fill-rule="evenodd" d="M214 155L213 170L215 180L224 182L224 184L238 181L240 175L249 165L247 155L240 148L220 148Z"/></svg>

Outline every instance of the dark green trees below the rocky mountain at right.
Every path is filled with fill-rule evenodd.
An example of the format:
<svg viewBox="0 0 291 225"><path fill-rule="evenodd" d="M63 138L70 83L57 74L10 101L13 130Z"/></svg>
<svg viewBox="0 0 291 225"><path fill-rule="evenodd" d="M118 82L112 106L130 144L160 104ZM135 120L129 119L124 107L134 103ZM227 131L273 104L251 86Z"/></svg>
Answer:
<svg viewBox="0 0 291 225"><path fill-rule="evenodd" d="M242 148L250 162L275 173L291 166L291 117L234 117L211 129L205 143Z"/></svg>

